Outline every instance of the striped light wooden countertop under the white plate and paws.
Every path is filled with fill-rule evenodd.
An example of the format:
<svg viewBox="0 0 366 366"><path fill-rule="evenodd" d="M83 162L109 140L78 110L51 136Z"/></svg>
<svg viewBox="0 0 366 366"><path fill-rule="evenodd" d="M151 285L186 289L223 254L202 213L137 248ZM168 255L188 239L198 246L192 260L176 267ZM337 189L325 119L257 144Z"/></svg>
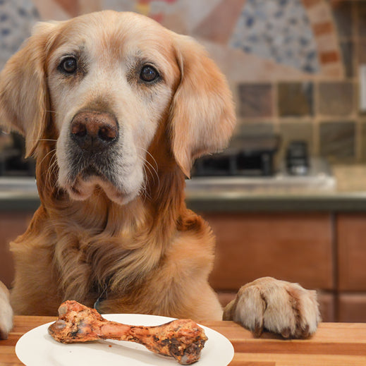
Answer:
<svg viewBox="0 0 366 366"><path fill-rule="evenodd" d="M15 353L16 342L20 336L54 319L15 317L14 328L9 338L0 341L0 365L22 365ZM254 338L249 331L233 322L202 324L219 331L233 343L235 355L231 366L366 365L366 324L322 323L315 336L301 341L284 341L271 334Z"/></svg>

